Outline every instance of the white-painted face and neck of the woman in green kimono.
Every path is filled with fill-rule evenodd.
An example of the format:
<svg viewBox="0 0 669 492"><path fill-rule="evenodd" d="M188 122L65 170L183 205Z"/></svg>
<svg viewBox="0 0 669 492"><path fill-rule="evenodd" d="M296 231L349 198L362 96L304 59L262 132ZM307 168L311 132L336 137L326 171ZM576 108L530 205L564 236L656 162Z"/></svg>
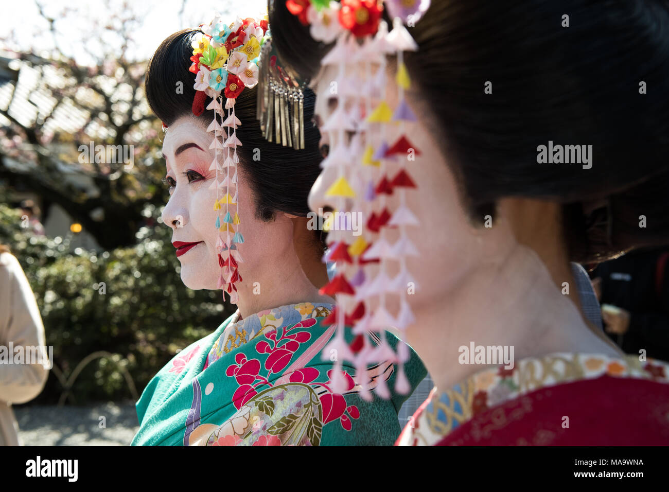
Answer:
<svg viewBox="0 0 669 492"><path fill-rule="evenodd" d="M210 144L211 133L195 116L177 119L163 141L166 180L171 186L163 222L173 230L173 244L178 241L176 246L181 246L180 250L175 248L175 254L180 253L177 258L181 262L181 280L195 290L217 289L221 271L216 248L216 189L210 188L215 171L208 171L214 158ZM306 230L306 218L284 212L276 213L270 222L256 218L256 195L243 162L237 165L237 179L237 213L245 238L243 244L237 245L243 258L238 266L243 280L237 284L237 307L242 317L304 299L331 302L329 297L318 294L318 288L303 270L302 262L308 270L314 269L309 259L314 256L312 231ZM219 195L226 192L219 188ZM306 234L296 233L297 227L305 228Z"/></svg>

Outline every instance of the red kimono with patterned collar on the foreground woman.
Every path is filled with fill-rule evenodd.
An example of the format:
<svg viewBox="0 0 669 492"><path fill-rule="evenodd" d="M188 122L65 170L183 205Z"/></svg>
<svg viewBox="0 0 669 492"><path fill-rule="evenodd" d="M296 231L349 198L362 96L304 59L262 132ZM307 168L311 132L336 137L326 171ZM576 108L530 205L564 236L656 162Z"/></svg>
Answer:
<svg viewBox="0 0 669 492"><path fill-rule="evenodd" d="M435 388L396 445L667 445L669 365L557 353Z"/></svg>

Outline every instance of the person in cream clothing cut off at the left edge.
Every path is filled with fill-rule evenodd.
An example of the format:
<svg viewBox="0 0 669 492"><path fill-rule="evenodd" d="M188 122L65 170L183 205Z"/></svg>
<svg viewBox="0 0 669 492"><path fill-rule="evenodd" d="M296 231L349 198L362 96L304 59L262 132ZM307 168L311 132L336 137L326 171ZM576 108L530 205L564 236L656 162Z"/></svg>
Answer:
<svg viewBox="0 0 669 492"><path fill-rule="evenodd" d="M23 347L22 363L14 358ZM13 347L13 349L9 349ZM31 363L37 347L41 363ZM19 426L12 404L29 402L44 388L50 361L35 295L19 261L0 245L0 445L19 446Z"/></svg>

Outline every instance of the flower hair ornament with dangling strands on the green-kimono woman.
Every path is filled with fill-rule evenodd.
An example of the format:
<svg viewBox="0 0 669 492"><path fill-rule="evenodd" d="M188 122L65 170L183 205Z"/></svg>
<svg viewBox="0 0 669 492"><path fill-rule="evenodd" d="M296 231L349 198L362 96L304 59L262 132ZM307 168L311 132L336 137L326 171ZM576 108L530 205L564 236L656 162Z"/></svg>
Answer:
<svg viewBox="0 0 669 492"><path fill-rule="evenodd" d="M207 96L212 98L207 110L213 110L213 120L207 131L214 134L209 149L213 149L215 157L209 171L216 174L209 188L216 189L213 208L217 211L216 248L221 268L217 289L223 289L230 302L237 304L236 284L242 282L238 266L244 261L237 245L244 243L244 236L240 232L237 205L237 163L240 162L237 146L242 142L236 130L242 122L235 116L235 100L244 88L258 84L260 50L268 37L268 21L237 17L233 23L226 24L216 15L208 25L200 25L200 29L191 42L193 56L189 71L195 74L193 88L196 90L192 110L195 116L200 116ZM223 189L225 194L221 196Z"/></svg>

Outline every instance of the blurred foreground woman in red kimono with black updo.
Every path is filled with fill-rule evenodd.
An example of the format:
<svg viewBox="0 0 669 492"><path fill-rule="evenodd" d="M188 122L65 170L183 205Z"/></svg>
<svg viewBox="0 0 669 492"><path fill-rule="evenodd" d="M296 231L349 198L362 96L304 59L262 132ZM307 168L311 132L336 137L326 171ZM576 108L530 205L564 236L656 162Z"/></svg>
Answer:
<svg viewBox="0 0 669 492"><path fill-rule="evenodd" d="M268 11L337 152L309 206L365 215L381 263L342 274L372 279L355 299L397 323L436 385L397 444L669 442L669 365L624 355L586 319L569 264L669 244L666 3ZM408 282L379 289L385 277Z"/></svg>

